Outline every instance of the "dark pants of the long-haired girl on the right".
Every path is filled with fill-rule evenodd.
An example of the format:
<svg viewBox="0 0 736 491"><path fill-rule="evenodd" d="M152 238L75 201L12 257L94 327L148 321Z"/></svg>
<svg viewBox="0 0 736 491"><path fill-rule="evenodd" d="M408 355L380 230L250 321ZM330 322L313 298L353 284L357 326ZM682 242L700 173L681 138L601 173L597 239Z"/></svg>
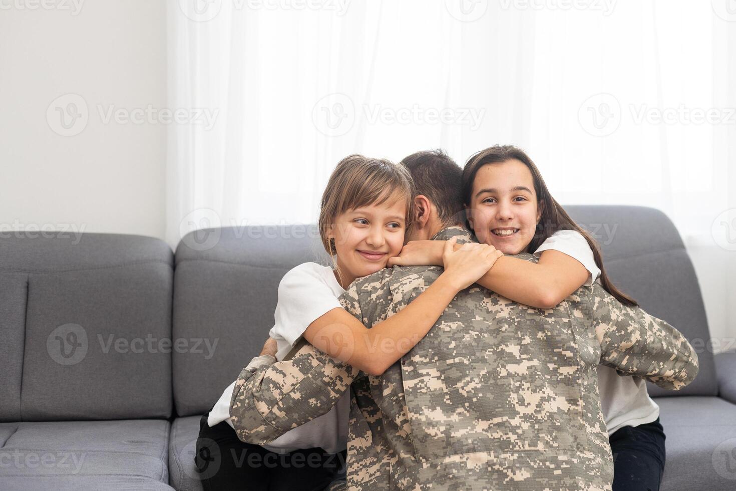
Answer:
<svg viewBox="0 0 736 491"><path fill-rule="evenodd" d="M613 491L658 491L665 470L665 432L653 423L624 426L609 437Z"/></svg>

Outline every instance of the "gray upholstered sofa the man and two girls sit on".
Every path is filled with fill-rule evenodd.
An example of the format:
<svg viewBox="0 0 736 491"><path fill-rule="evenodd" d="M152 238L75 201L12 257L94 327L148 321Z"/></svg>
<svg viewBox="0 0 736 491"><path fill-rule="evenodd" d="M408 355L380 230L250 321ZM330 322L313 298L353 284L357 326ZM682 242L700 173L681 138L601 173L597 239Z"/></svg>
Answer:
<svg viewBox="0 0 736 491"><path fill-rule="evenodd" d="M570 206L611 278L700 356L662 409L668 491L736 489L736 353L712 356L698 281L651 208ZM258 354L280 278L324 259L314 227L0 238L0 489L201 490L199 417ZM247 487L244 485L244 489Z"/></svg>

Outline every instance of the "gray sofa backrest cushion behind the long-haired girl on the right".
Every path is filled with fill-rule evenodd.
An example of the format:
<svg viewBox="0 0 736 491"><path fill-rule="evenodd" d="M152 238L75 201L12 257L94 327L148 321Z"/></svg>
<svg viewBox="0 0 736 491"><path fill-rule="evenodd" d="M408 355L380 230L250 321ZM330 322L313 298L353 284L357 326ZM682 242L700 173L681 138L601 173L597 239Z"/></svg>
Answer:
<svg viewBox="0 0 736 491"><path fill-rule="evenodd" d="M700 370L677 392L648 384L649 394L716 395L713 354L698 278L682 239L662 211L640 206L566 206L570 216L601 244L604 266L618 288L648 313L682 332L698 353Z"/></svg>

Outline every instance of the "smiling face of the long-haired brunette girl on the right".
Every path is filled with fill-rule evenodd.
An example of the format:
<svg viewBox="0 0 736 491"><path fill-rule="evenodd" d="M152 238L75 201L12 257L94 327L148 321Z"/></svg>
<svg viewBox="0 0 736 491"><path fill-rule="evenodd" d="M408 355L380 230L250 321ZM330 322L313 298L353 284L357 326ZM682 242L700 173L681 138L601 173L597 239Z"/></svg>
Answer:
<svg viewBox="0 0 736 491"><path fill-rule="evenodd" d="M534 178L516 159L478 169L467 208L468 222L478 240L504 254L526 250L542 215Z"/></svg>

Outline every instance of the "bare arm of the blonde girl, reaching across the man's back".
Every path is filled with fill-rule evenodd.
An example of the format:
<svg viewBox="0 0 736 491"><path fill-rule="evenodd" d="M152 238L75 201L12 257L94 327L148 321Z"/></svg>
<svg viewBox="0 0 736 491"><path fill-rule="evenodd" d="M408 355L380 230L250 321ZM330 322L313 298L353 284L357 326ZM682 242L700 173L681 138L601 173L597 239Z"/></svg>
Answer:
<svg viewBox="0 0 736 491"><path fill-rule="evenodd" d="M368 375L381 375L425 336L462 289L475 283L501 255L486 244L445 242L445 271L402 311L366 328L344 308L333 308L312 322L304 337L333 358Z"/></svg>

